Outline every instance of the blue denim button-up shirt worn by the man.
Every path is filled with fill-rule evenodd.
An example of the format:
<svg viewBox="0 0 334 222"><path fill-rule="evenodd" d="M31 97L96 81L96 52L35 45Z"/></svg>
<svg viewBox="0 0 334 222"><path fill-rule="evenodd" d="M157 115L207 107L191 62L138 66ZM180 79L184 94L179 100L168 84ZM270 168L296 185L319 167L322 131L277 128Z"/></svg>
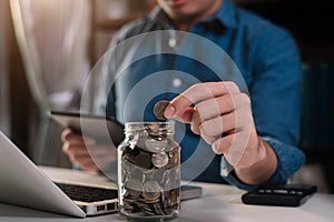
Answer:
<svg viewBox="0 0 334 222"><path fill-rule="evenodd" d="M155 37L154 41L146 37L140 41L125 41L157 30L165 30L168 34ZM228 0L217 13L193 26L189 32L214 42L227 56L217 53L217 50L194 56L200 46L187 44L187 39L180 48L186 46L183 49L188 52L174 53L178 34L159 7L148 17L124 27L110 44L110 50L114 50L102 58L96 111L115 115L122 123L157 121L153 113L157 101L171 100L197 82L235 81L250 97L258 135L277 157L277 169L263 185L286 183L305 159L296 147L302 65L293 38L284 29L234 7ZM124 42L130 47L116 47ZM176 49L164 50L165 44ZM195 61L189 53L196 57ZM230 58L235 67L222 62L225 57ZM125 62L129 58L130 62ZM203 64L202 59L208 64ZM216 68L220 70L216 71ZM220 77L217 72L238 72L243 80ZM191 133L188 124L177 123L175 138L181 147L183 179L228 182L245 190L258 188L239 181L224 155L215 154L200 137Z"/></svg>

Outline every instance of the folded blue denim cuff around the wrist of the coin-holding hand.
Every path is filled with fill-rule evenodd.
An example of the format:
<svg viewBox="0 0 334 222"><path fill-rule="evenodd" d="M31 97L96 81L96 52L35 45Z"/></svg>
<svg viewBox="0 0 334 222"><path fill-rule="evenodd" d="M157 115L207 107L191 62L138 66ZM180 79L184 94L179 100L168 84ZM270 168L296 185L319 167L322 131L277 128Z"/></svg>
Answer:
<svg viewBox="0 0 334 222"><path fill-rule="evenodd" d="M277 169L272 178L261 185L246 184L236 176L233 165L230 165L223 157L220 163L220 175L228 183L248 191L257 190L261 186L285 184L287 180L304 164L305 155L298 148L282 143L272 138L263 138L263 140L272 147L277 157Z"/></svg>

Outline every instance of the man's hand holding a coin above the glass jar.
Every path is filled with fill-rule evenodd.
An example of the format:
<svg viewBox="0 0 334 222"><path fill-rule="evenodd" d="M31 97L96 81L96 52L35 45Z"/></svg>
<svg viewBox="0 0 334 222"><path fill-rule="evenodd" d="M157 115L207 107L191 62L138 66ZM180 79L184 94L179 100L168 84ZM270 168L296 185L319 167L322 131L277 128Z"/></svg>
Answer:
<svg viewBox="0 0 334 222"><path fill-rule="evenodd" d="M275 153L257 135L250 99L234 82L195 84L170 101L164 115L190 123L191 131L210 144L215 153L224 154L237 173L246 173L239 176L245 182L261 183L274 173ZM263 164L267 169L261 169L254 175L256 180L253 175L249 180L248 173Z"/></svg>

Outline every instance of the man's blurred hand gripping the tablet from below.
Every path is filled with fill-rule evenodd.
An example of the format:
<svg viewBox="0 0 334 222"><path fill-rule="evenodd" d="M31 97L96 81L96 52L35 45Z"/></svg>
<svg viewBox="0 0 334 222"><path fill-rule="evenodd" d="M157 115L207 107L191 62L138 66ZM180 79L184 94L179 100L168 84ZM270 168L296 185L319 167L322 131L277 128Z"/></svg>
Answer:
<svg viewBox="0 0 334 222"><path fill-rule="evenodd" d="M107 145L97 144L92 138L73 133L66 129L61 133L62 151L69 160L82 170L99 172L107 168L111 161L117 160L117 150Z"/></svg>

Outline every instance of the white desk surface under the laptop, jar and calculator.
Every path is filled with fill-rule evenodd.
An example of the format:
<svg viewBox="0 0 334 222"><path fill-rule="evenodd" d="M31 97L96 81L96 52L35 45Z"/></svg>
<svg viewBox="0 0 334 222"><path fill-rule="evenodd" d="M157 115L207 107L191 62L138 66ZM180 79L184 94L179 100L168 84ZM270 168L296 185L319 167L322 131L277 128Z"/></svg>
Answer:
<svg viewBox="0 0 334 222"><path fill-rule="evenodd" d="M105 178L94 174L78 173L69 170L42 168L47 174L60 180L72 175L88 182L108 183ZM175 221L271 221L271 222L325 222L334 221L334 195L315 193L298 208L245 205L240 201L244 191L232 185L194 183L204 188L203 196L181 203L179 216ZM60 221L126 221L119 214L76 219L16 205L0 203L0 221L13 222L60 222Z"/></svg>

